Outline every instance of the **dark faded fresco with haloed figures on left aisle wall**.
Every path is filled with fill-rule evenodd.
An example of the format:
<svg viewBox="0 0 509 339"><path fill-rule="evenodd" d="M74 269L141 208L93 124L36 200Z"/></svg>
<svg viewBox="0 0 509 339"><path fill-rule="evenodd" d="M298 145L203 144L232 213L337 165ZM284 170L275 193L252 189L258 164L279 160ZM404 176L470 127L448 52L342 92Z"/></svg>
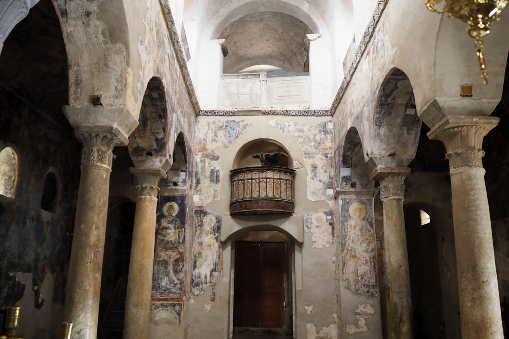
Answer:
<svg viewBox="0 0 509 339"><path fill-rule="evenodd" d="M36 309L46 303L63 303L69 221L2 197L0 222L0 305L14 306L24 293L33 293ZM15 272L32 273L32 285L17 281ZM40 295L48 274L53 275L54 284L49 300Z"/></svg>

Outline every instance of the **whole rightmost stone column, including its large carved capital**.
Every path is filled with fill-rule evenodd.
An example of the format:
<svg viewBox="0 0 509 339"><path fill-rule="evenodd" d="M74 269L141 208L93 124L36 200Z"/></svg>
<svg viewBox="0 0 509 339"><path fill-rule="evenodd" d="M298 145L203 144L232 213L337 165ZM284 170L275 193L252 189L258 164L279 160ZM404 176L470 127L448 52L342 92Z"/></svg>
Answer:
<svg viewBox="0 0 509 339"><path fill-rule="evenodd" d="M445 144L453 193L454 236L463 338L503 338L483 138L497 117L449 116L429 133Z"/></svg>

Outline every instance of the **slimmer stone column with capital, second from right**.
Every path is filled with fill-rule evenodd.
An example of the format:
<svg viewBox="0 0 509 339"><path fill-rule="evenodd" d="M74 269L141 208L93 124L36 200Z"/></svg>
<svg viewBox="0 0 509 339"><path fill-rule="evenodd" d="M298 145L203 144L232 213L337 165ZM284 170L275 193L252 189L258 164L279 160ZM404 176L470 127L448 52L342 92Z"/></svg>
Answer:
<svg viewBox="0 0 509 339"><path fill-rule="evenodd" d="M408 173L408 167L377 167L371 174L372 180L380 181L383 203L385 301L390 339L412 338L412 296L403 215L403 182Z"/></svg>

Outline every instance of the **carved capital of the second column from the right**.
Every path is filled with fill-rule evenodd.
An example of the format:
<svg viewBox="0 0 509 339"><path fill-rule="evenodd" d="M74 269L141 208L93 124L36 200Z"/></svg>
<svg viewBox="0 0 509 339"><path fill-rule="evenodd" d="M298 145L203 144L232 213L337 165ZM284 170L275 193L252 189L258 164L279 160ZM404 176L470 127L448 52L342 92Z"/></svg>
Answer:
<svg viewBox="0 0 509 339"><path fill-rule="evenodd" d="M408 167L377 167L370 178L380 181L380 199L403 199L405 178L410 173Z"/></svg>

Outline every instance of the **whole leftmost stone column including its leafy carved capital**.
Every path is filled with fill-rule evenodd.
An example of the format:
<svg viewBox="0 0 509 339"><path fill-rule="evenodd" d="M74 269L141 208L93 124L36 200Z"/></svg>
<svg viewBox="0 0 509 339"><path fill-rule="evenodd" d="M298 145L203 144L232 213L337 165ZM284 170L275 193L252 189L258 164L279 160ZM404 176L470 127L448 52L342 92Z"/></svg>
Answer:
<svg viewBox="0 0 509 339"><path fill-rule="evenodd" d="M112 150L127 139L114 132L76 135L83 150L64 320L74 323L74 339L92 339L97 336Z"/></svg>

